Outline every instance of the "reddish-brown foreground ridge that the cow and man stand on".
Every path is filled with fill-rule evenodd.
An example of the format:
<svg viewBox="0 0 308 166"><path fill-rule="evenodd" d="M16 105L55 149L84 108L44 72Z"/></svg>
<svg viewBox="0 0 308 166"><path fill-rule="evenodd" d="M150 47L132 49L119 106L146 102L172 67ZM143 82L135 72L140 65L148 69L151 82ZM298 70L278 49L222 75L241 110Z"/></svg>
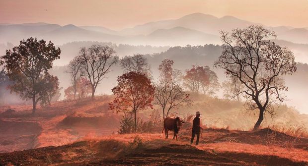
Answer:
<svg viewBox="0 0 308 166"><path fill-rule="evenodd" d="M125 134L82 138L83 141L64 146L50 146L0 154L2 165L63 166L306 166L308 151L295 146L307 139L290 137L277 144L260 142L270 129L257 132L206 129L200 145L189 145L183 131L180 141L165 140L163 134ZM281 133L283 134L283 133ZM136 135L138 137L136 138ZM249 139L238 139L242 135ZM277 133L276 135L279 135ZM214 137L213 137L214 136ZM220 139L229 138L237 140ZM291 140L293 139L293 140ZM134 142L134 140L137 140ZM284 147L293 141L292 147ZM212 143L210 143L212 142ZM215 142L215 143L213 143Z"/></svg>

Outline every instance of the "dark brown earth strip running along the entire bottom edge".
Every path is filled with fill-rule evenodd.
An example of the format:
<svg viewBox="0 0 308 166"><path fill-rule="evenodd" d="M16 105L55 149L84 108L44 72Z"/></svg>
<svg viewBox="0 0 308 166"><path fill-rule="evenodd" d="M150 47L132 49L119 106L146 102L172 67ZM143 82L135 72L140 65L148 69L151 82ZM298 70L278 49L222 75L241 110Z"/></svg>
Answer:
<svg viewBox="0 0 308 166"><path fill-rule="evenodd" d="M119 159L93 151L87 142L0 154L0 166L308 166L305 162L269 155L215 153L191 145L167 144ZM111 150L112 151L112 150Z"/></svg>

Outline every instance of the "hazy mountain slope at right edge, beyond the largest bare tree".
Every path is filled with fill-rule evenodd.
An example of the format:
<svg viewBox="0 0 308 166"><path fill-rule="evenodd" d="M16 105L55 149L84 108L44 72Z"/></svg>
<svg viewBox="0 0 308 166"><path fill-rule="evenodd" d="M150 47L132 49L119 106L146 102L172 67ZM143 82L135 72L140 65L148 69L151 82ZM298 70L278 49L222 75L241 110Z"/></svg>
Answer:
<svg viewBox="0 0 308 166"><path fill-rule="evenodd" d="M278 34L278 39L287 40L293 43L308 44L308 29L294 28Z"/></svg>

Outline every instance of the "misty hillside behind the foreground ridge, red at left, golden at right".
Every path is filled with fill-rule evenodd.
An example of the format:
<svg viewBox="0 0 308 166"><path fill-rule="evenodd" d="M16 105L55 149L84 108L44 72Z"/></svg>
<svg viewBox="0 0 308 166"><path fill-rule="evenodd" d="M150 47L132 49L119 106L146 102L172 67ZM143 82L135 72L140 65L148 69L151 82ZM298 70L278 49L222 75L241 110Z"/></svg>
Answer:
<svg viewBox="0 0 308 166"><path fill-rule="evenodd" d="M224 99L193 96L192 106L176 108L171 116L185 120L191 114L201 111L203 125L207 127L250 130L257 116L255 112L246 112L242 103ZM0 107L0 152L31 149L45 146L59 146L72 143L85 136L102 136L117 133L121 114L108 111L108 102L112 96L97 96L94 101L53 102L50 107L39 107L31 114L31 105L13 105ZM160 112L160 108L154 107ZM307 131L308 117L299 114L287 106L276 109L277 114L266 116L262 127L290 126ZM153 110L138 112L138 117L147 121ZM274 125L274 126L273 126ZM188 126L189 127L189 126ZM161 126L162 128L162 126ZM161 131L156 129L155 131Z"/></svg>

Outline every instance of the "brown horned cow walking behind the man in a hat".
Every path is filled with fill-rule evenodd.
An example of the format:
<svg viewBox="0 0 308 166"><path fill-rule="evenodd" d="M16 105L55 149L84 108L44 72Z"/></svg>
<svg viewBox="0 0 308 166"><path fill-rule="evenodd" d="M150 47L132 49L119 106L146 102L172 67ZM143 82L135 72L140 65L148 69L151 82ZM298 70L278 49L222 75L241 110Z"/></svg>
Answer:
<svg viewBox="0 0 308 166"><path fill-rule="evenodd" d="M161 133L163 133L163 130L165 130L165 136L166 136L166 139L168 139L168 131L172 130L173 133L174 133L173 139L175 137L176 140L177 140L176 134L179 132L179 130L182 126L182 123L185 123L185 121L180 120L179 117L176 117L176 118L166 117L163 120L163 129L162 129Z"/></svg>

